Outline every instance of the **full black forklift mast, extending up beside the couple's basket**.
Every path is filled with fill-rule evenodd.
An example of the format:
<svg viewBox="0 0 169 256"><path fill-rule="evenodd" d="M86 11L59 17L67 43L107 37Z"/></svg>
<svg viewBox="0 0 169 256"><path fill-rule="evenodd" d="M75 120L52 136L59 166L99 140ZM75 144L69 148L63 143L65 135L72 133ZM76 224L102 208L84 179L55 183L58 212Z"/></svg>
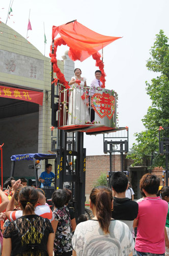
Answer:
<svg viewBox="0 0 169 256"><path fill-rule="evenodd" d="M59 82L58 82L59 84ZM51 84L51 125L57 129L59 93L58 84ZM83 148L82 132L57 129L57 137L51 137L51 151L57 154L55 161L55 189L68 187L72 190L75 217L85 214L86 148Z"/></svg>

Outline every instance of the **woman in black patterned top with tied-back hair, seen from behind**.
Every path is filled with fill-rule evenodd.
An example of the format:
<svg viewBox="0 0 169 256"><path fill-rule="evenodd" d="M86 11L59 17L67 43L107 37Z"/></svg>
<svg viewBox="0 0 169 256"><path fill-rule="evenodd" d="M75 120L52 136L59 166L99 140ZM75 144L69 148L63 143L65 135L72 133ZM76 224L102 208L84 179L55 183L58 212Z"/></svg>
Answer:
<svg viewBox="0 0 169 256"><path fill-rule="evenodd" d="M52 256L53 229L48 219L35 214L38 197L38 191L31 186L20 190L18 203L23 215L6 228L2 256L11 256L11 252L15 256Z"/></svg>

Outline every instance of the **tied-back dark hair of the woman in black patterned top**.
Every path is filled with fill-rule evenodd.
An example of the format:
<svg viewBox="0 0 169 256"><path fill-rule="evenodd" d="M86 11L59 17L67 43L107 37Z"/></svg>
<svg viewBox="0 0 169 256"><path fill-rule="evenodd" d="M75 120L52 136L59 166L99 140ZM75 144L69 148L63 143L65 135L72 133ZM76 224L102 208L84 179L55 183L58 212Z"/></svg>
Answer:
<svg viewBox="0 0 169 256"><path fill-rule="evenodd" d="M19 192L19 202L25 211L30 211L31 213L35 210L36 204L38 202L39 194L38 191L31 186L23 187Z"/></svg>

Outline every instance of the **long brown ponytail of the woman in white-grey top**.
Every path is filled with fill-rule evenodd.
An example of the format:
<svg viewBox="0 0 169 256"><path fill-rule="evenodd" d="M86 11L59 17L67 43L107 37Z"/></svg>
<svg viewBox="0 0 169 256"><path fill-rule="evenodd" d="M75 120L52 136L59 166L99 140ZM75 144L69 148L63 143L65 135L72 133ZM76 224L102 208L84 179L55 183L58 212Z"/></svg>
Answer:
<svg viewBox="0 0 169 256"><path fill-rule="evenodd" d="M111 189L106 186L98 186L92 189L90 200L96 207L96 217L103 232L109 233L112 209Z"/></svg>

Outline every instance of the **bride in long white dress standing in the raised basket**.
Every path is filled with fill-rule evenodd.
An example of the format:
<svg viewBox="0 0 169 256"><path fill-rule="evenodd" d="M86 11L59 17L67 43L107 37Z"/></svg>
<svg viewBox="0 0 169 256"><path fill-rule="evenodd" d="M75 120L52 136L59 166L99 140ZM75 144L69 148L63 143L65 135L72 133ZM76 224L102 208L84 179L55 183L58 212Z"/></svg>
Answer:
<svg viewBox="0 0 169 256"><path fill-rule="evenodd" d="M74 70L75 76L69 82L70 90L69 111L67 124L85 124L90 121L89 104L86 98L86 78L81 77L81 70ZM82 96L82 98L81 98Z"/></svg>

